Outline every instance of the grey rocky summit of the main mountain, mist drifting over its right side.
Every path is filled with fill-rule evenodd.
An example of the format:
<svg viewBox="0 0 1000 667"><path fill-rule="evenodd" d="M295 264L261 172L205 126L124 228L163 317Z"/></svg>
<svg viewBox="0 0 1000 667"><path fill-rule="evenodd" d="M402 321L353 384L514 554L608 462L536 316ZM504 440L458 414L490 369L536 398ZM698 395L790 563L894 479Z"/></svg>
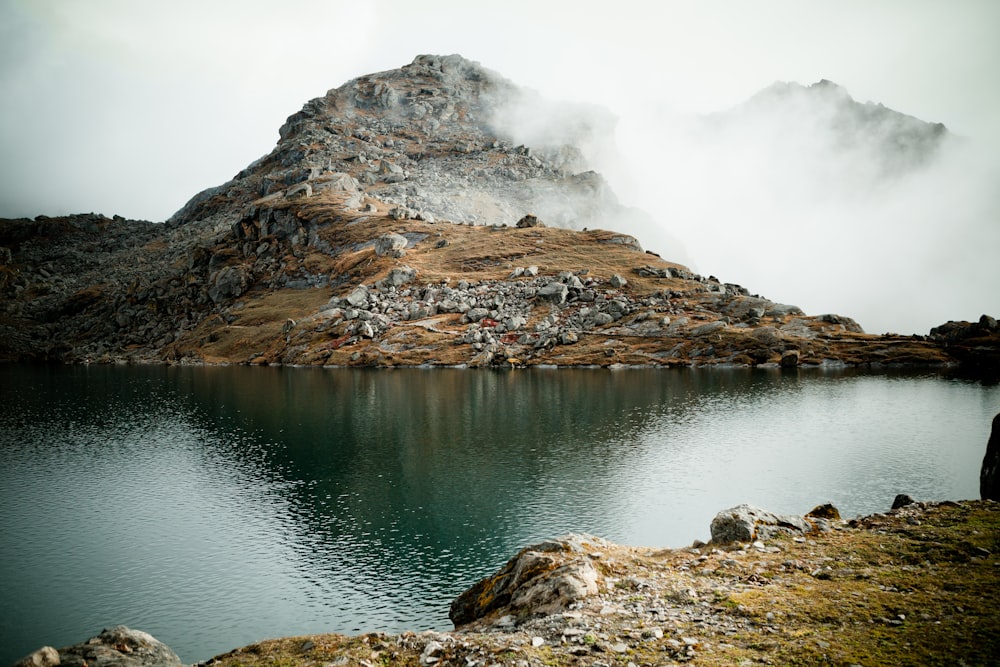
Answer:
<svg viewBox="0 0 1000 667"><path fill-rule="evenodd" d="M461 56L417 56L306 103L268 155L196 195L169 222L232 223L254 207L325 190L355 206L370 196L407 216L454 222L513 224L531 212L579 229L640 216L619 204L580 148L610 136L610 115L565 105L548 126L538 120L545 114L534 115L526 132L524 110L543 104Z"/></svg>

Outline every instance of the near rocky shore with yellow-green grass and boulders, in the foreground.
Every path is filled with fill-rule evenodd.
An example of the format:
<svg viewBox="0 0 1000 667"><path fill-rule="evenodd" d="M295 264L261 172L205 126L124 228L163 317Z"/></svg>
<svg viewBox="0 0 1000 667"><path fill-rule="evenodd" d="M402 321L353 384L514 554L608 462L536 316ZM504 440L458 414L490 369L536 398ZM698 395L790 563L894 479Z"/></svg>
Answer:
<svg viewBox="0 0 1000 667"><path fill-rule="evenodd" d="M748 506L709 544L570 535L527 547L452 605L456 630L260 642L204 667L284 665L992 664L1000 652L1000 503L913 502L842 520ZM119 627L18 667L179 667Z"/></svg>

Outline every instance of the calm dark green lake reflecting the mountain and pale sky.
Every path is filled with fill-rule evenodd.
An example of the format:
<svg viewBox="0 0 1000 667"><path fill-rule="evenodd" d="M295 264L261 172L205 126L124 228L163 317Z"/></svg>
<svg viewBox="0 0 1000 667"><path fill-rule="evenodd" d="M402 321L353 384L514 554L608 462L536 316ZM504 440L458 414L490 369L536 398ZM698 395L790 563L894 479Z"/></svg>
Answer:
<svg viewBox="0 0 1000 667"><path fill-rule="evenodd" d="M751 370L0 366L0 664L126 624L187 663L448 629L534 541L750 502L978 497L1000 388Z"/></svg>

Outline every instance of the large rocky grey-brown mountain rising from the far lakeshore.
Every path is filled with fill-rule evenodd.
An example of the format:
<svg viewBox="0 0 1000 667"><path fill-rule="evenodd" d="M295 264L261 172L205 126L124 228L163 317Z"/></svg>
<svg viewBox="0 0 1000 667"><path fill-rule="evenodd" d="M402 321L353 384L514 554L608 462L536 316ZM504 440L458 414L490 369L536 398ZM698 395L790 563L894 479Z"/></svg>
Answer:
<svg viewBox="0 0 1000 667"><path fill-rule="evenodd" d="M970 347L870 336L644 251L628 231L645 214L591 169L613 118L546 105L418 56L308 102L165 224L2 221L0 358L941 364Z"/></svg>

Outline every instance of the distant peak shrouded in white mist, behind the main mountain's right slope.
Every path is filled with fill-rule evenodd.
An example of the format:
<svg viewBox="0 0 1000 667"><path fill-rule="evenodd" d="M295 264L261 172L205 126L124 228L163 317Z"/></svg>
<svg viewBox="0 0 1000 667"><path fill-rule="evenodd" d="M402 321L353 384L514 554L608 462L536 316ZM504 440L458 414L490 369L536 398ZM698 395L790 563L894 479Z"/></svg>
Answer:
<svg viewBox="0 0 1000 667"><path fill-rule="evenodd" d="M1000 249L1000 163L941 123L824 80L706 116L630 115L618 139L628 168L610 182L700 270L874 332L1000 306L998 264L971 250Z"/></svg>

